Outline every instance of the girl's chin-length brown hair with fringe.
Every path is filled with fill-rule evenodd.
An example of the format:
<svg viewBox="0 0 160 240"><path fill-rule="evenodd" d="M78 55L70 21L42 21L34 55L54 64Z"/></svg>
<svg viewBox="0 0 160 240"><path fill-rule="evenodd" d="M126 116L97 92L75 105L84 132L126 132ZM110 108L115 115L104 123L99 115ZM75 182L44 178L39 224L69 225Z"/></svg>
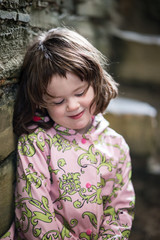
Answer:
<svg viewBox="0 0 160 240"><path fill-rule="evenodd" d="M40 35L28 48L20 73L20 86L13 116L17 135L32 132L33 116L48 116L43 95L53 75L76 74L94 88L95 114L103 112L117 95L117 84L106 72L105 57L84 37L68 28L55 28ZM48 116L49 117L49 116ZM53 120L40 121L37 126L49 129Z"/></svg>

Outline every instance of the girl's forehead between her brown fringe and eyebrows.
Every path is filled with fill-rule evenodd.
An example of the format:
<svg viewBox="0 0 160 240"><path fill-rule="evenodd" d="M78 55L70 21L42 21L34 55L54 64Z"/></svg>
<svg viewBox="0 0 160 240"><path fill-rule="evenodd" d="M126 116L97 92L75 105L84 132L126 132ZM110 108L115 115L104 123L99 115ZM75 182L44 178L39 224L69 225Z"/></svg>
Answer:
<svg viewBox="0 0 160 240"><path fill-rule="evenodd" d="M86 85L86 81L73 73L67 73L66 77L54 75L47 86L47 93L53 97L66 96Z"/></svg>

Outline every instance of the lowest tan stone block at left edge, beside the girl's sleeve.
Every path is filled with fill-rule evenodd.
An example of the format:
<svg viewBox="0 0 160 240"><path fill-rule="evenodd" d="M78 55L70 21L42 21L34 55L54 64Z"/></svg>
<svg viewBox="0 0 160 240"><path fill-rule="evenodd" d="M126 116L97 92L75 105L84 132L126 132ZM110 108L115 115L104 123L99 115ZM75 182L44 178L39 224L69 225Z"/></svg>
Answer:
<svg viewBox="0 0 160 240"><path fill-rule="evenodd" d="M14 214L15 154L0 164L0 236L9 228Z"/></svg>

